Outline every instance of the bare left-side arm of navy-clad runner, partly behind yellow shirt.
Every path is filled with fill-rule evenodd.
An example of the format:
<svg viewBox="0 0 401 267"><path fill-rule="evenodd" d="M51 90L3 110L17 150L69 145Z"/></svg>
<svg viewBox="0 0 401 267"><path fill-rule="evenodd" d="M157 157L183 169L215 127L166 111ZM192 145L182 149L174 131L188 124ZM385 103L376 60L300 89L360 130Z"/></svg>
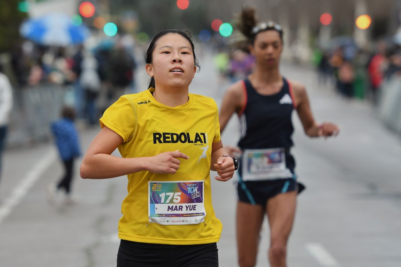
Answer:
<svg viewBox="0 0 401 267"><path fill-rule="evenodd" d="M244 105L243 82L233 83L226 91L223 102L221 103L219 122L220 132L222 133L227 122L234 112L239 113Z"/></svg>

